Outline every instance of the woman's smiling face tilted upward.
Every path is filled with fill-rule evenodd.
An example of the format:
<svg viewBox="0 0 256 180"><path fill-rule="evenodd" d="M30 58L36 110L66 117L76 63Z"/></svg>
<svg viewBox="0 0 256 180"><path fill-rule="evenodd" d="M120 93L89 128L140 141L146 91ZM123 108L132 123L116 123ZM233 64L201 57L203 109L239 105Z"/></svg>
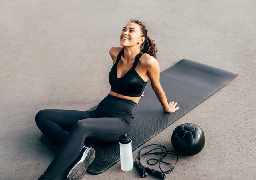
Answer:
<svg viewBox="0 0 256 180"><path fill-rule="evenodd" d="M144 40L145 38L141 37L141 27L135 22L126 24L120 34L120 45L123 47L140 47Z"/></svg>

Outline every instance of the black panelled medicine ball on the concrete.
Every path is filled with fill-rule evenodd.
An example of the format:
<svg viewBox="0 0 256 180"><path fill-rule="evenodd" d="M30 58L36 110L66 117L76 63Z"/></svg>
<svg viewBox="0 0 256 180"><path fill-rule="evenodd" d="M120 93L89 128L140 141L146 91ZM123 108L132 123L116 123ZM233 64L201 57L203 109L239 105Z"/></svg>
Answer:
<svg viewBox="0 0 256 180"><path fill-rule="evenodd" d="M187 156L195 155L204 148L204 132L196 124L181 124L173 131L171 143L177 153Z"/></svg>

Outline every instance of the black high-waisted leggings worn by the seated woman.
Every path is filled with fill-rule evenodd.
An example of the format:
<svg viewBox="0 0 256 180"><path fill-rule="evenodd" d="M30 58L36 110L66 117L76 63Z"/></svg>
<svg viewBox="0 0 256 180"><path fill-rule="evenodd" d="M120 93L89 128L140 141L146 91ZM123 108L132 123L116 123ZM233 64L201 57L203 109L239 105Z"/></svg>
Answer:
<svg viewBox="0 0 256 180"><path fill-rule="evenodd" d="M36 124L59 149L41 177L55 179L65 171L81 152L85 138L118 142L121 134L131 134L136 107L131 100L108 94L93 111L40 110Z"/></svg>

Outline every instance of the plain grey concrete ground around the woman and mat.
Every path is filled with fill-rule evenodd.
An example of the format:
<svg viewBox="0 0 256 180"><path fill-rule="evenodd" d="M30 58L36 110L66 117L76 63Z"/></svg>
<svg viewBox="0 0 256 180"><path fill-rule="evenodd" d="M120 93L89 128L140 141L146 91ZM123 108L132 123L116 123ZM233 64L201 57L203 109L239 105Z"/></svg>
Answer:
<svg viewBox="0 0 256 180"><path fill-rule="evenodd" d="M0 1L0 179L37 179L54 158L34 122L39 110L87 110L109 93L108 50L130 19L147 25L161 71L187 58L238 73L146 143L171 148L185 122L204 130L202 152L180 157L167 179L255 179L255 9L254 0ZM103 178L140 176L117 163L83 179Z"/></svg>

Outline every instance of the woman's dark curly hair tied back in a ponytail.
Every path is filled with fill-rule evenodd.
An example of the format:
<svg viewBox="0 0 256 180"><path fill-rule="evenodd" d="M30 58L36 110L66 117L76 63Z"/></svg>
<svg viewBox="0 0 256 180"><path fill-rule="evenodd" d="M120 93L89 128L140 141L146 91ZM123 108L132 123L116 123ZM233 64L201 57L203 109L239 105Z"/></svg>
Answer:
<svg viewBox="0 0 256 180"><path fill-rule="evenodd" d="M130 22L135 22L141 26L142 37L145 37L145 41L141 44L141 52L147 53L154 58L157 57L157 47L155 47L155 41L152 40L149 35L147 35L147 28L143 22L139 20L131 20Z"/></svg>

